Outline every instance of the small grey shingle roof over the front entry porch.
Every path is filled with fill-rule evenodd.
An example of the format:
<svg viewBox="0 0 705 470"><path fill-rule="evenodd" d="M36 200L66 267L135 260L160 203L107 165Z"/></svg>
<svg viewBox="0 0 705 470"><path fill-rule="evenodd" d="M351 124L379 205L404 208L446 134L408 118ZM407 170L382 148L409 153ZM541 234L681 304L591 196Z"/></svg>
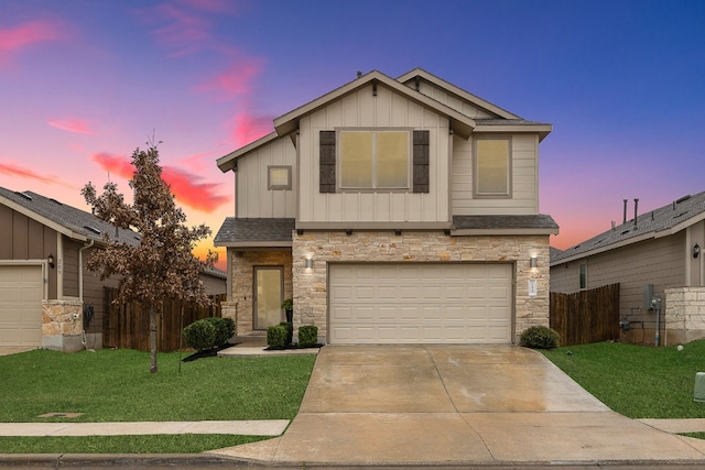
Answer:
<svg viewBox="0 0 705 470"><path fill-rule="evenodd" d="M239 219L228 217L215 238L215 244L248 242L289 242L295 219Z"/></svg>

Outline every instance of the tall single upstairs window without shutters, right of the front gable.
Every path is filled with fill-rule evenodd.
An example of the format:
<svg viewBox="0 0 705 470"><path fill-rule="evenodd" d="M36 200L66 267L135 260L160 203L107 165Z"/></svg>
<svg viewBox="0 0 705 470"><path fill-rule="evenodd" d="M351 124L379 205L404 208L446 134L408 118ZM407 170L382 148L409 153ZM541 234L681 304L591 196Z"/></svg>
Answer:
<svg viewBox="0 0 705 470"><path fill-rule="evenodd" d="M511 144L508 138L475 140L475 195L511 195Z"/></svg>

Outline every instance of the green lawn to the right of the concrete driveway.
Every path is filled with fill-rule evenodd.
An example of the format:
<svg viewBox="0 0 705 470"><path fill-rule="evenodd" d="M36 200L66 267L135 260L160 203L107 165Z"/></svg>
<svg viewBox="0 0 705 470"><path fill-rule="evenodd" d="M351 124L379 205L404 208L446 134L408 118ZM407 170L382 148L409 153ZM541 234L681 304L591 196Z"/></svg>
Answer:
<svg viewBox="0 0 705 470"><path fill-rule="evenodd" d="M705 372L705 341L652 348L598 342L542 351L615 412L630 418L703 418L693 401L695 373Z"/></svg>

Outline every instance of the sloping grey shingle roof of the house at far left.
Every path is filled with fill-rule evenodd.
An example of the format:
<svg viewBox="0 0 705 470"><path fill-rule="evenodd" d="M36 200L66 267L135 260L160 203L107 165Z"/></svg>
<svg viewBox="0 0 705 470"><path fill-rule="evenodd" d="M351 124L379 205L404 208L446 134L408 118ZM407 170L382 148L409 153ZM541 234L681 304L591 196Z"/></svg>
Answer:
<svg viewBox="0 0 705 470"><path fill-rule="evenodd" d="M138 244L140 236L131 230L118 229L111 223L105 222L90 212L77 209L59 203L56 199L44 197L40 194L25 190L23 193L0 187L0 197L28 209L42 218L65 228L67 231L83 236L86 239L101 241L102 236L108 234L111 240L128 244ZM0 199L0 204L2 199ZM116 237L117 233L117 237Z"/></svg>

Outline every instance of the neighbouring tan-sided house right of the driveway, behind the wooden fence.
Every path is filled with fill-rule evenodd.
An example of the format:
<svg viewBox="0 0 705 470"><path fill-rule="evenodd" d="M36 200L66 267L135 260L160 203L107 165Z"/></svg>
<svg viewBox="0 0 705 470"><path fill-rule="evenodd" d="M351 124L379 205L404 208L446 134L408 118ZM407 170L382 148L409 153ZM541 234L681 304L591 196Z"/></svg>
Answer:
<svg viewBox="0 0 705 470"><path fill-rule="evenodd" d="M622 339L671 345L705 337L705 192L681 197L551 255L551 291L619 283Z"/></svg>

